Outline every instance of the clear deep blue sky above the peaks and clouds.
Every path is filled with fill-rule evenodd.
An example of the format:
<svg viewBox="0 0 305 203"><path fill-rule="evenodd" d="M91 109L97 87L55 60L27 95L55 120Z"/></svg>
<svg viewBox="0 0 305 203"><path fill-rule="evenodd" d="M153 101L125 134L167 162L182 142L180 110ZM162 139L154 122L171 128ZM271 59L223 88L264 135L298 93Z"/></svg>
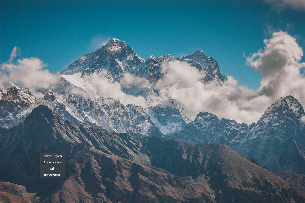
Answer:
<svg viewBox="0 0 305 203"><path fill-rule="evenodd" d="M274 0L269 2L280 2ZM142 58L202 50L225 75L257 89L261 75L245 65L273 31L305 47L305 11L263 0L243 1L4 1L0 0L0 63L13 47L38 57L51 72L70 65L112 37ZM304 61L304 58L303 60Z"/></svg>

